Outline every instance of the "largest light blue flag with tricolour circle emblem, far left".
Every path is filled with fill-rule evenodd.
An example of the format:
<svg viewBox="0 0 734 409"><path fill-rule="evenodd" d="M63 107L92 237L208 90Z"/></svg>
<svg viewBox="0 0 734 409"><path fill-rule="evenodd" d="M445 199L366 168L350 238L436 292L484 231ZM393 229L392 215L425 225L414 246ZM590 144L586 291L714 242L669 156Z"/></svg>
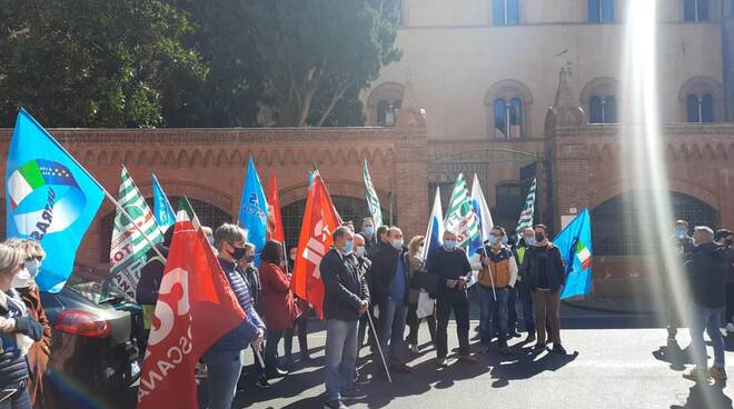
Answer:
<svg viewBox="0 0 734 409"><path fill-rule="evenodd" d="M43 247L36 277L42 291L63 288L103 198L89 172L21 108L6 172L8 238L31 238Z"/></svg>

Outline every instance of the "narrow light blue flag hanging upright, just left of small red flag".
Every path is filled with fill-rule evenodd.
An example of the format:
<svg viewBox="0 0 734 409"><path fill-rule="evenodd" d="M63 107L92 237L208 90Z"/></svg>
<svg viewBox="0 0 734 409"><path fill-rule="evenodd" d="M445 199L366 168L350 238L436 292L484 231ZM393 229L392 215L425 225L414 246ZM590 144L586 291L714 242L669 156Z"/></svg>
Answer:
<svg viewBox="0 0 734 409"><path fill-rule="evenodd" d="M260 252L265 247L268 233L268 202L260 177L250 157L247 163L247 176L242 188L242 199L239 202L239 226L248 232L247 241L255 246L255 265L260 265Z"/></svg>

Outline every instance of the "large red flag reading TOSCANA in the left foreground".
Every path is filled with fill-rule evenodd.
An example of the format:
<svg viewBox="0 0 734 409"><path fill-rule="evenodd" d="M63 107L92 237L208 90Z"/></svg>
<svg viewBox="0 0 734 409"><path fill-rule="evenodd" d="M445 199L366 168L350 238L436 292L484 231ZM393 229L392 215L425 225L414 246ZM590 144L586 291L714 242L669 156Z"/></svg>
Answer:
<svg viewBox="0 0 734 409"><path fill-rule="evenodd" d="M142 362L138 409L198 408L197 360L245 319L204 231L179 211Z"/></svg>

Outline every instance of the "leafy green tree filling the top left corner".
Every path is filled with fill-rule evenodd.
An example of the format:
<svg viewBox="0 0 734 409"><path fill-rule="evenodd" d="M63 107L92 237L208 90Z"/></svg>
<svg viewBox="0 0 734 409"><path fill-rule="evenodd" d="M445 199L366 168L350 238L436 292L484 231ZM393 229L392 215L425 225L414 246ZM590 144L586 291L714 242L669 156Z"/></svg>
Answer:
<svg viewBox="0 0 734 409"><path fill-rule="evenodd" d="M207 68L169 0L0 0L0 126L26 107L53 127L166 126Z"/></svg>

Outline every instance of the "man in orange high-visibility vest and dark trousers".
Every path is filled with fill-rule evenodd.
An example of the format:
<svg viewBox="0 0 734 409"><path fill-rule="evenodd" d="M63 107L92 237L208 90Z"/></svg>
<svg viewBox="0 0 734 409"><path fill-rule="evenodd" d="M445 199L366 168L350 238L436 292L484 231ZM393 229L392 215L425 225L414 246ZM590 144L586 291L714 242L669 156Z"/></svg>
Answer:
<svg viewBox="0 0 734 409"><path fill-rule="evenodd" d="M507 347L507 319L509 291L517 280L517 263L512 250L503 243L505 230L498 226L489 232L489 245L482 251L482 270L478 282L482 289L482 310L484 321L482 333L486 348L494 336L497 336L499 353L509 355ZM492 327L492 328L490 328Z"/></svg>

